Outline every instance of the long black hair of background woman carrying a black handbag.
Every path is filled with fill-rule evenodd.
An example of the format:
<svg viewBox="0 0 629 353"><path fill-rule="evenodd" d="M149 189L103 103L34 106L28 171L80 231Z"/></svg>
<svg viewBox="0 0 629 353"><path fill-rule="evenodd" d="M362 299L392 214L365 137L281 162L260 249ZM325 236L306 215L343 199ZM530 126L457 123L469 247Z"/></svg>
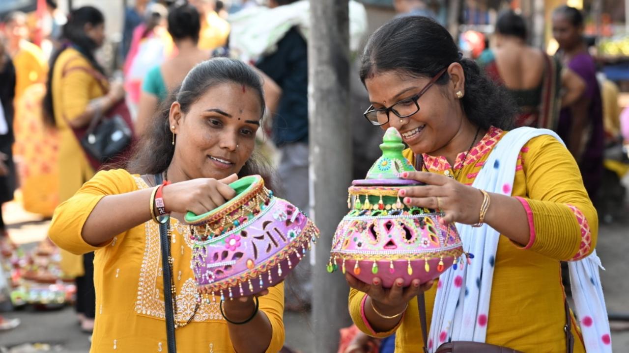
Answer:
<svg viewBox="0 0 629 353"><path fill-rule="evenodd" d="M55 126L55 110L52 97L52 75L55 71L55 63L59 55L70 46L74 46L79 52L87 58L92 67L104 74L104 69L96 61L94 51L97 48L96 42L86 35L84 27L86 24L98 26L105 22L103 13L92 6L83 6L70 12L67 23L64 24L61 34L61 41L65 41L52 57L50 57L50 70L48 70L48 82L46 83L46 95L43 97L43 118L50 126Z"/></svg>

